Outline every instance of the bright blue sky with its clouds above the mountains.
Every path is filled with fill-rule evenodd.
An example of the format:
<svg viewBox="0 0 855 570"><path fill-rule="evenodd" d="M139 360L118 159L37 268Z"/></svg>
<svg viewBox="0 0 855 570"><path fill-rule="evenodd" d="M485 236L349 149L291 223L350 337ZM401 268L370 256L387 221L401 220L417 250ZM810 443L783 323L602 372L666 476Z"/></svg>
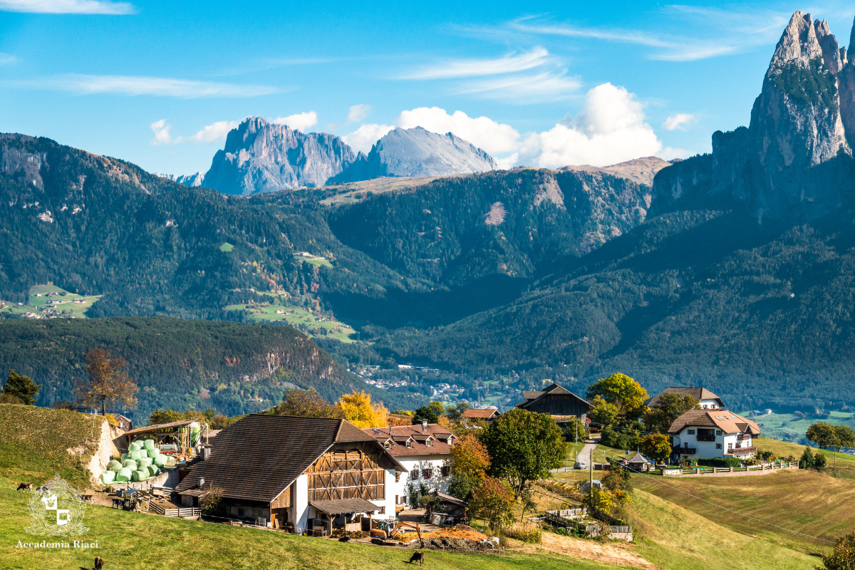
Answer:
<svg viewBox="0 0 855 570"><path fill-rule="evenodd" d="M745 125L796 9L843 3L0 0L0 131L207 170L248 115L360 150L452 130L504 166L710 149Z"/></svg>

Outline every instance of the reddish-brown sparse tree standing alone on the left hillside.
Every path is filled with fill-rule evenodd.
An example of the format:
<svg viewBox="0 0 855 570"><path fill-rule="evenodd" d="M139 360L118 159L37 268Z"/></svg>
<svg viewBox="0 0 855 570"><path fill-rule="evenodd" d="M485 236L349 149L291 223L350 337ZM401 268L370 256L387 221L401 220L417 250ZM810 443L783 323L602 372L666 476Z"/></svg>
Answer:
<svg viewBox="0 0 855 570"><path fill-rule="evenodd" d="M84 406L100 405L101 414L107 414L107 403L121 404L127 408L137 405L137 384L124 371L127 361L113 357L103 349L86 353L88 379L77 379L74 396Z"/></svg>

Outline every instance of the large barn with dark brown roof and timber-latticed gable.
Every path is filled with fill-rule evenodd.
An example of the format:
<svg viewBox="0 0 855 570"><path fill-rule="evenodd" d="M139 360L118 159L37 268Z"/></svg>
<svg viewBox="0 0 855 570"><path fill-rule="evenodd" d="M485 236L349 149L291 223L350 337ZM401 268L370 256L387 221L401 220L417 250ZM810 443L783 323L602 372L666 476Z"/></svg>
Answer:
<svg viewBox="0 0 855 570"><path fill-rule="evenodd" d="M367 531L374 514L394 516L404 467L347 420L250 414L210 445L175 489L185 506L218 487L229 517L298 533Z"/></svg>

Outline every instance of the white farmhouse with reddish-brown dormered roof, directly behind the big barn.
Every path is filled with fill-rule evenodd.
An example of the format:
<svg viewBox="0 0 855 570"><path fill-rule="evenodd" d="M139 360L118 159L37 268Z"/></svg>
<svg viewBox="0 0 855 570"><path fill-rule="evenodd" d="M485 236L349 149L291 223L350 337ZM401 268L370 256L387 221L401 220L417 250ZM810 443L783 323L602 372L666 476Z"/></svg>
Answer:
<svg viewBox="0 0 855 570"><path fill-rule="evenodd" d="M412 498L422 491L448 492L451 470L446 461L451 461L451 445L457 438L445 427L422 422L418 426L369 427L363 432L380 442L404 467L406 475L390 484L397 510L415 507Z"/></svg>

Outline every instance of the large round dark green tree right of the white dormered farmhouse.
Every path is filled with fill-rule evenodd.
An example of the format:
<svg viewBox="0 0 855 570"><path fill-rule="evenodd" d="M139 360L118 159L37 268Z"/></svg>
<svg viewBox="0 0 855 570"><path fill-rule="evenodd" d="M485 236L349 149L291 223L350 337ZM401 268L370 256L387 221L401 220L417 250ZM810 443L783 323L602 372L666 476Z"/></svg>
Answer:
<svg viewBox="0 0 855 570"><path fill-rule="evenodd" d="M528 481L549 477L567 452L561 428L549 414L514 408L493 420L481 441L490 454L489 473L510 480L516 493Z"/></svg>

